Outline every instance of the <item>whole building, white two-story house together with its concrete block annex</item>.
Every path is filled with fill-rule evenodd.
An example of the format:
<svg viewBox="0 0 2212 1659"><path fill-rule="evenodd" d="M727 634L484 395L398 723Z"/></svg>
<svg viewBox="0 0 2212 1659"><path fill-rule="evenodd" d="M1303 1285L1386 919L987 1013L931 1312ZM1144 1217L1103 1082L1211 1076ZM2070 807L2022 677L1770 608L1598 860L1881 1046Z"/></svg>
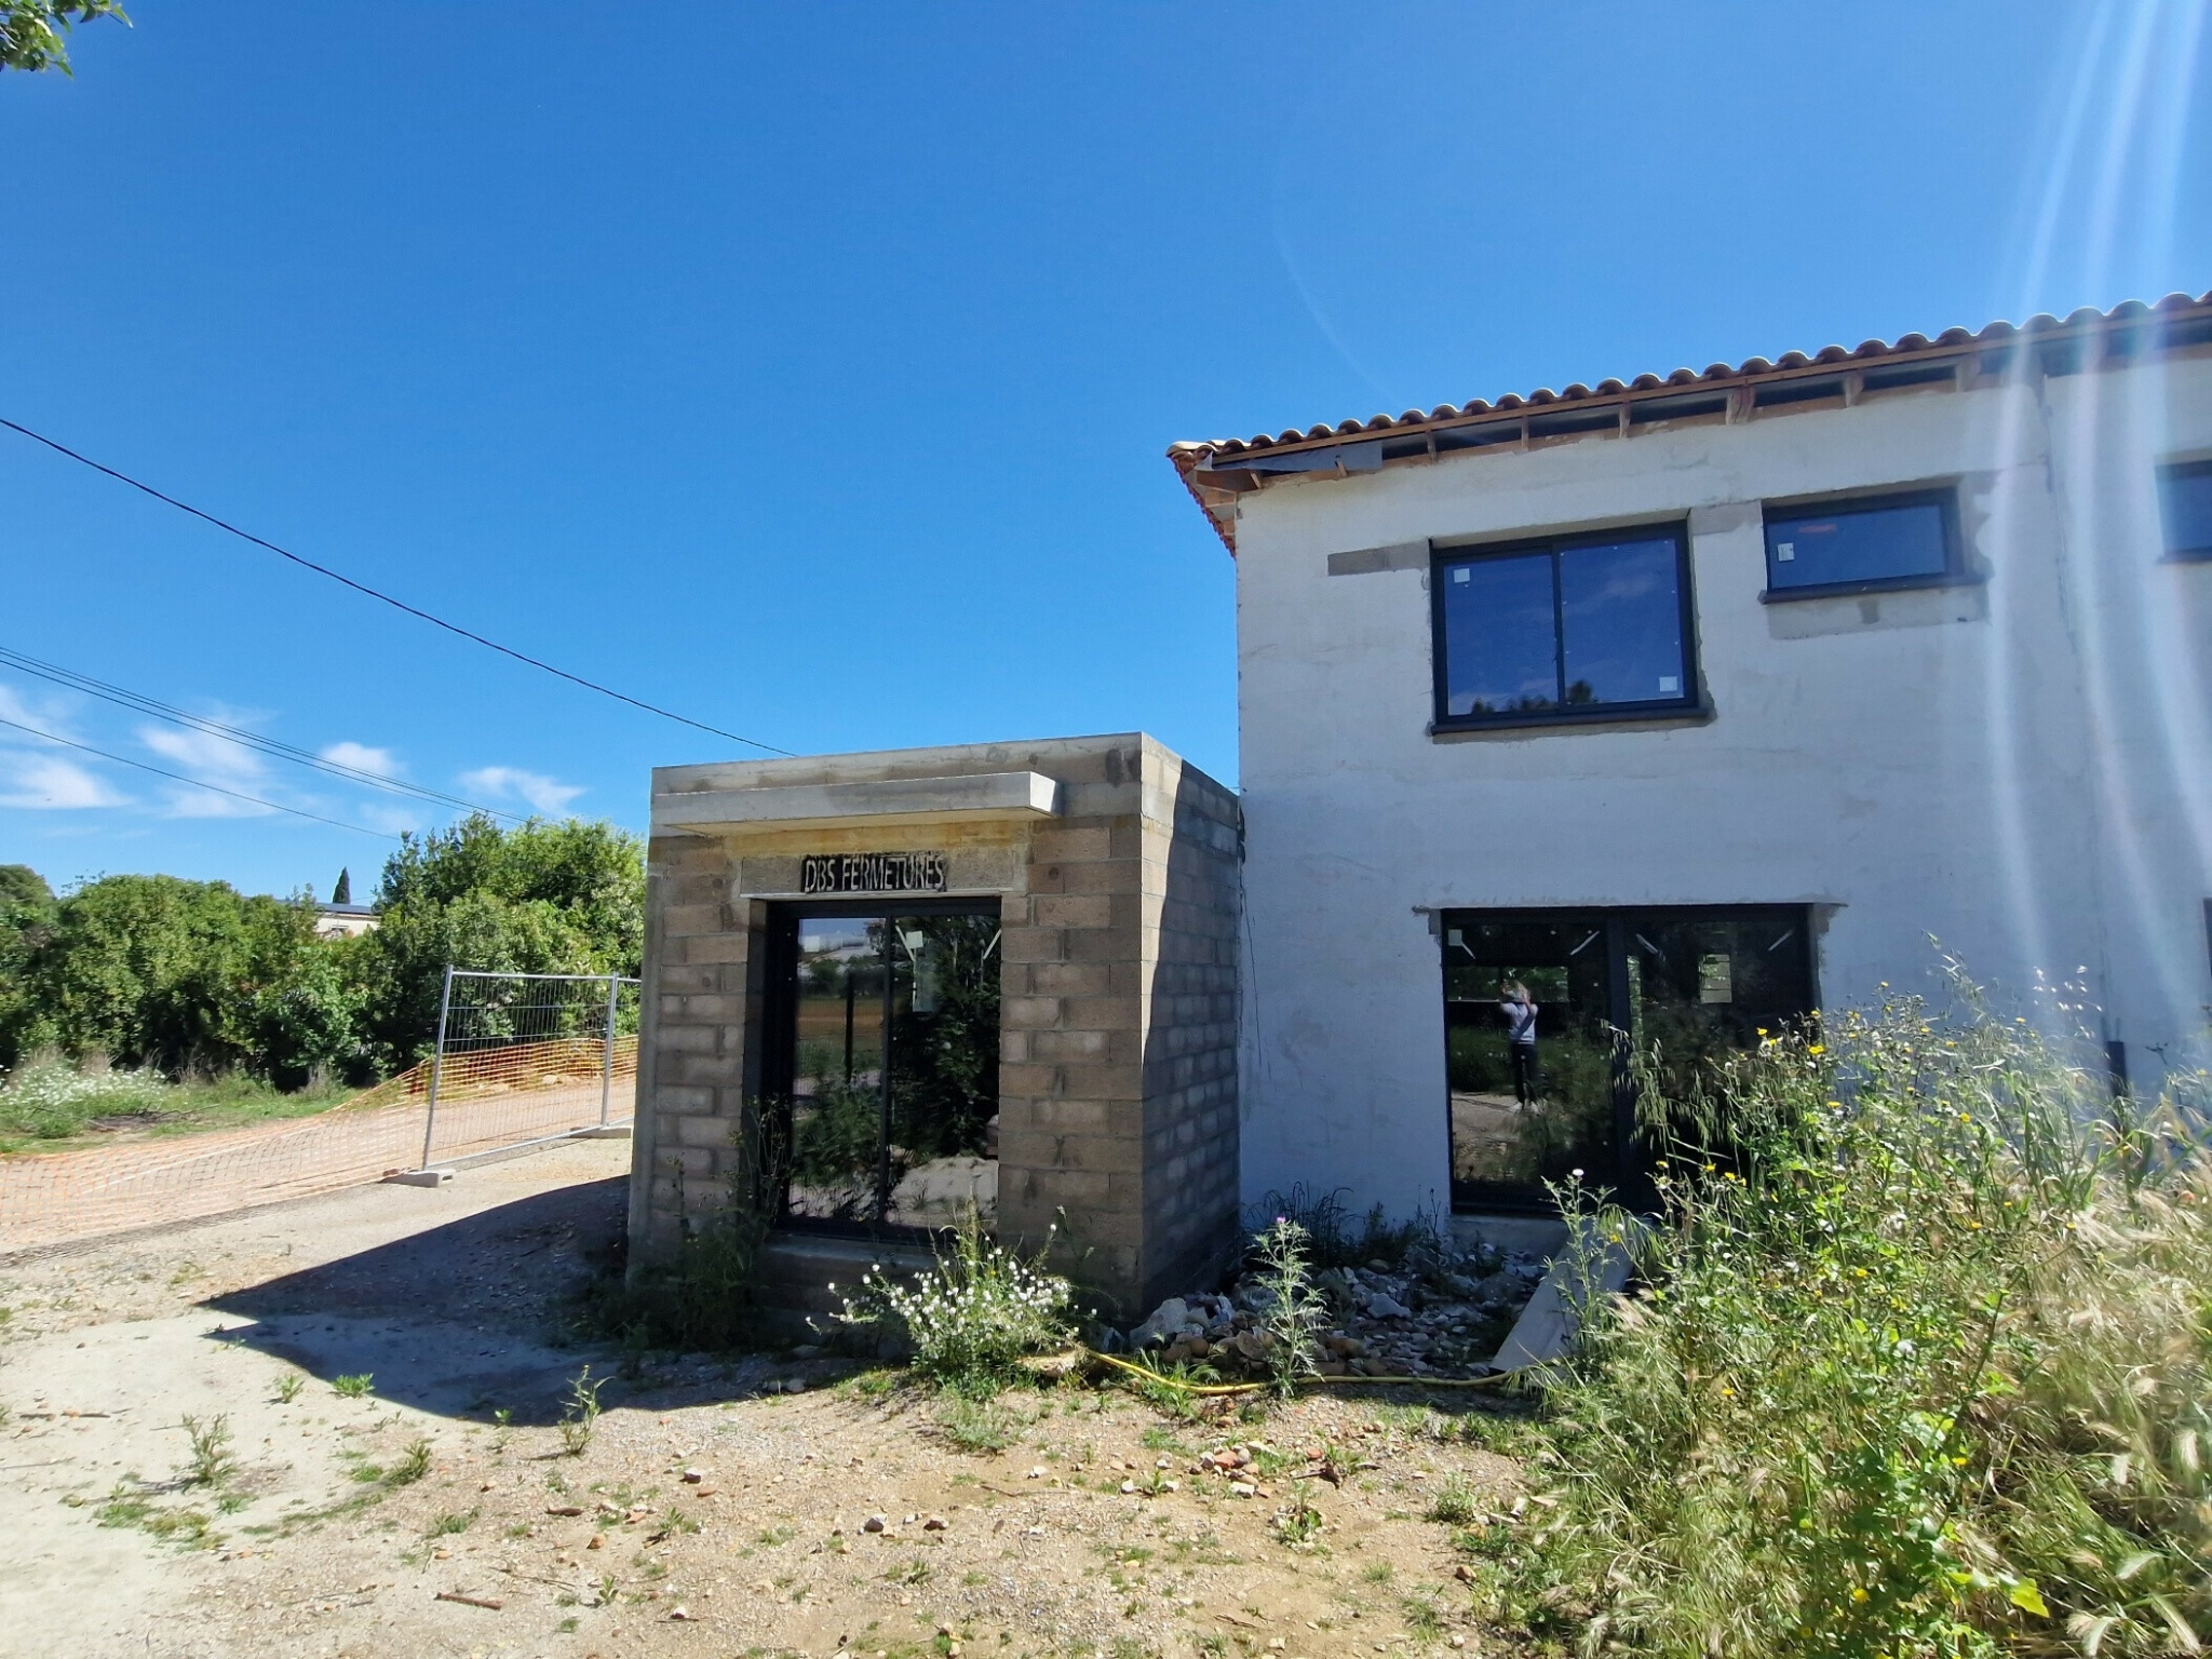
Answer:
<svg viewBox="0 0 2212 1659"><path fill-rule="evenodd" d="M1170 456L1237 792L1135 732L655 772L639 1261L768 1170L796 1305L973 1208L1141 1310L1270 1190L1632 1194L1615 1033L1940 953L2115 1077L2205 1029L2212 294Z"/></svg>

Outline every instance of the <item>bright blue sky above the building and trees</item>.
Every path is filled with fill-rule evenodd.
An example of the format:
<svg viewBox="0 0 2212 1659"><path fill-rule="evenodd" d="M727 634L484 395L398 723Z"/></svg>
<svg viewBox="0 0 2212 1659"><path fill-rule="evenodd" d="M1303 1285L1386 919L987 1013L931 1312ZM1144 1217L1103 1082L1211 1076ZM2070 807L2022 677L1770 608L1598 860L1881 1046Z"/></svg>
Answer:
<svg viewBox="0 0 2212 1659"><path fill-rule="evenodd" d="M2212 288L2203 0L279 7L0 80L0 416L779 748L1237 774L1161 451ZM0 646L509 812L745 754L0 431ZM0 717L438 823L0 668ZM0 863L389 841L0 728Z"/></svg>

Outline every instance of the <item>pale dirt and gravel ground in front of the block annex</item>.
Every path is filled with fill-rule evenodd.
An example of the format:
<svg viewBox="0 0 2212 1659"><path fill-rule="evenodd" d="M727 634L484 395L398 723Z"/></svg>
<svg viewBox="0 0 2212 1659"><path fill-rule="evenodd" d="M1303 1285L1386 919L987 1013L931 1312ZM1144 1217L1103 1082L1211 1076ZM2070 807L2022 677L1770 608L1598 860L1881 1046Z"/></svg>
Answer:
<svg viewBox="0 0 2212 1659"><path fill-rule="evenodd" d="M619 1225L626 1150L0 1259L0 1652L1484 1650L1425 1513L1504 1506L1511 1467L1411 1409L1214 1427L1064 1387L962 1451L933 1400L754 1356L617 1380L566 1455L560 1396L608 1358L549 1312ZM234 1471L179 1482L184 1418L217 1413ZM1256 1462L1199 1467L1230 1440ZM1343 1484L1294 1478L1323 1442Z"/></svg>

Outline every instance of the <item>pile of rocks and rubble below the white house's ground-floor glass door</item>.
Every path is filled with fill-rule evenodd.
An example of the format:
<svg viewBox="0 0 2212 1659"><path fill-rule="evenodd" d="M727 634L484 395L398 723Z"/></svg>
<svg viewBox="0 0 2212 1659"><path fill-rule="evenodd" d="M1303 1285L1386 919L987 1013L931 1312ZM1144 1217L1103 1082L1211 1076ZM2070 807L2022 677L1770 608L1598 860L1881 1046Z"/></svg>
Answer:
<svg viewBox="0 0 2212 1659"><path fill-rule="evenodd" d="M1327 1303L1321 1371L1480 1374L1542 1276L1535 1256L1451 1245L1413 1245L1396 1265L1329 1267L1314 1281ZM1159 1365L1203 1360L1223 1376L1254 1376L1274 1347L1272 1305L1267 1281L1245 1274L1228 1296L1170 1296L1128 1332L1128 1345Z"/></svg>

